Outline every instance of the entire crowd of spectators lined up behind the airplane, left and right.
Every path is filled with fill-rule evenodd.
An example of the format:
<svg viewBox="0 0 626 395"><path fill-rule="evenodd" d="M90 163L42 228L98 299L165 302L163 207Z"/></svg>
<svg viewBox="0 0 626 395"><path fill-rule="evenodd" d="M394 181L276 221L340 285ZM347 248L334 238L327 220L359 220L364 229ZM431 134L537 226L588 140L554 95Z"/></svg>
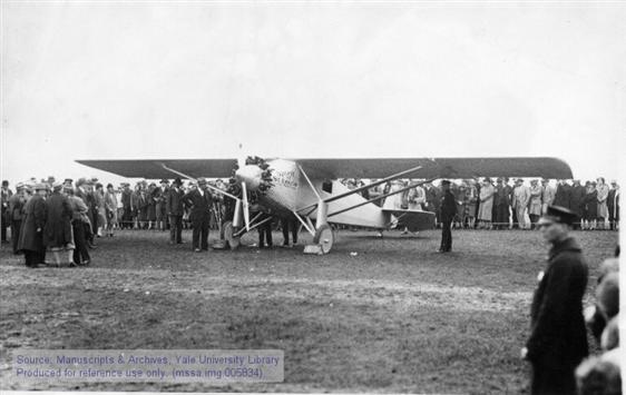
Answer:
<svg viewBox="0 0 626 395"><path fill-rule="evenodd" d="M341 181L349 189L354 189L366 186L370 180ZM517 179L511 185L508 178L498 178L495 182L490 178L453 180L450 191L457 207L452 227L532 229L546 208L556 205L577 214L575 229L619 228L619 186L615 181L608 185L600 177L597 181L587 181L585 186L579 180L558 180L554 185L546 179L534 179L529 184ZM3 181L2 241L7 241L7 228L10 227L13 253L40 251L46 247L60 263L60 251L71 249L71 259L66 260L76 265L88 264L89 248L96 248L96 238L113 237L116 229L169 230L170 243L182 244L182 230L192 228L193 249L207 249L208 229L219 229L225 218L233 216L234 209L232 199L208 190L207 185L231 192L236 188L233 182L221 179L192 180L186 185L180 179L174 182L162 179L158 184L143 180L134 187L129 182L121 182L118 187L107 184L105 187L96 178L65 179L60 182L48 177L41 181L31 178L19 182L13 194L9 182ZM404 191L390 195L401 189ZM197 201L194 204L194 198L197 199L198 195L204 197L205 190L211 197L206 200L211 210L196 210L194 215L194 207L198 206ZM374 203L384 208L434 213L437 226L441 227L441 185L399 179L365 188L361 195L368 199L380 197ZM38 198L27 205L32 197ZM272 246L272 230L275 228L283 228L285 245L297 243L297 221L268 219L258 227L260 247ZM32 230L42 236L41 240L32 237ZM288 241L290 234L292 244ZM26 255L31 266L43 260L30 253Z"/></svg>

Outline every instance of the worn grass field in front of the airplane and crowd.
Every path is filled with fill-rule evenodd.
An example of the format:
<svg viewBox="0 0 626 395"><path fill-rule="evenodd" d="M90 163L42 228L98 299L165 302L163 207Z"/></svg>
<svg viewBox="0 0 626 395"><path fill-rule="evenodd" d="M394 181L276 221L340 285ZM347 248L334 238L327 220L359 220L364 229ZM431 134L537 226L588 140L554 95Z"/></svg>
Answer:
<svg viewBox="0 0 626 395"><path fill-rule="evenodd" d="M617 233L574 236L593 290ZM189 244L168 245L166 233L123 231L98 239L91 266L74 269L28 269L2 245L2 388L63 388L8 383L11 356L25 348L274 348L285 353L282 384L72 388L527 392L528 366L518 355L545 266L540 234L459 230L453 237L454 251L439 255L434 230L382 239L341 231L333 251L320 257L302 248L194 254Z"/></svg>

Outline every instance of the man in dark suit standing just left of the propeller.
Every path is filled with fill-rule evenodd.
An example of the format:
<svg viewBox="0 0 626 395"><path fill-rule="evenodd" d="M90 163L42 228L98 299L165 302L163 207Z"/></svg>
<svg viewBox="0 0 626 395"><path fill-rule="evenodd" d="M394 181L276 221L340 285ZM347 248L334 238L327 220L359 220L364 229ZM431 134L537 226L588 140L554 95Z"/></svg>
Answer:
<svg viewBox="0 0 626 395"><path fill-rule="evenodd" d="M199 253L208 249L208 221L211 219L211 207L213 197L208 191L207 182L204 178L198 179L198 189L192 190L183 197L183 204L192 208L189 219L194 226L192 234L192 248Z"/></svg>

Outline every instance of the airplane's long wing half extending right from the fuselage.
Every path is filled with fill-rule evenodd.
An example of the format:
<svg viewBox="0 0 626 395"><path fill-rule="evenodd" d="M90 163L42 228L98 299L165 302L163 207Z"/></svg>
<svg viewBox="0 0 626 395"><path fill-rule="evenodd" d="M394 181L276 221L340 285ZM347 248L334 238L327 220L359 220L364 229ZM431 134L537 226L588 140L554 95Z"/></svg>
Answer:
<svg viewBox="0 0 626 395"><path fill-rule="evenodd" d="M544 177L573 178L556 158L293 159L312 177L384 178L422 166L407 178Z"/></svg>

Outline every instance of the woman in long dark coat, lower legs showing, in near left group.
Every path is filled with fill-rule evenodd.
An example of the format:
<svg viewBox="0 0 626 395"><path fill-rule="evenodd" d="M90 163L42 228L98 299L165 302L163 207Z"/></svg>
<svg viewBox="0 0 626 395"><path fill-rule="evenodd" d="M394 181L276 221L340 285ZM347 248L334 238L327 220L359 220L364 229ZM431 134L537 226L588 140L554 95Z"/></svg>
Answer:
<svg viewBox="0 0 626 395"><path fill-rule="evenodd" d="M48 206L43 243L55 256L55 263L61 266L60 251L68 253L66 263L74 265L74 235L71 230L71 207L65 195L61 195L61 182L55 182L52 195L46 200Z"/></svg>

